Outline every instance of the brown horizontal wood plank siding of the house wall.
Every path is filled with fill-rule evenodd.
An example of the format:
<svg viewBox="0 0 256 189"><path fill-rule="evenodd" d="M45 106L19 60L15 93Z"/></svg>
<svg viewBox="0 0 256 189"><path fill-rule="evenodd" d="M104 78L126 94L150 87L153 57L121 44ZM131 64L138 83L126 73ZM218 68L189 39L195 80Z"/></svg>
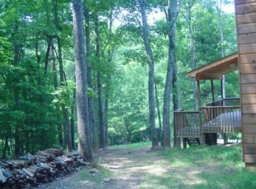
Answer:
<svg viewBox="0 0 256 189"><path fill-rule="evenodd" d="M243 161L256 165L256 0L235 0Z"/></svg>

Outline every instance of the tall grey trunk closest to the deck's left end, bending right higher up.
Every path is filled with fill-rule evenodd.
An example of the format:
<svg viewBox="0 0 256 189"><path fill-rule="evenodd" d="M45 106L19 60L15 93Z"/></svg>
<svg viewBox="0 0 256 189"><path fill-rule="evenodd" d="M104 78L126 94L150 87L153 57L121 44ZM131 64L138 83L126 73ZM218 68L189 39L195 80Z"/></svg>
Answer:
<svg viewBox="0 0 256 189"><path fill-rule="evenodd" d="M168 51L168 63L167 63L167 76L165 81L165 92L164 92L164 110L163 110L163 129L164 129L164 147L170 147L170 93L173 84L173 69L176 66L175 56L175 30L176 30L176 9L177 1L168 0L168 24L169 24L169 51Z"/></svg>

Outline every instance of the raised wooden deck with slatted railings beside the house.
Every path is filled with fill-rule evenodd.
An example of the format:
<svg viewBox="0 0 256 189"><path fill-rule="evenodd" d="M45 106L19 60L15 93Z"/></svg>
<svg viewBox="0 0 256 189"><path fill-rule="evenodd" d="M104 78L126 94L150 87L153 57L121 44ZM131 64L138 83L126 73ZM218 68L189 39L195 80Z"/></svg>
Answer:
<svg viewBox="0 0 256 189"><path fill-rule="evenodd" d="M186 138L203 140L205 133L241 132L241 107L237 105L239 100L221 99L206 107L199 107L198 111L174 112L178 143Z"/></svg>

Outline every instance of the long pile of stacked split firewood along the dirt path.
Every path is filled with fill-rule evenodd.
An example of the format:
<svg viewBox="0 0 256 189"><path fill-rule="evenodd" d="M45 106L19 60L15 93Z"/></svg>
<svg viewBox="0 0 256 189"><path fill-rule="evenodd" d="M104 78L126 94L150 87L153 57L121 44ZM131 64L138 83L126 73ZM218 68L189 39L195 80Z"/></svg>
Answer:
<svg viewBox="0 0 256 189"><path fill-rule="evenodd" d="M81 166L86 163L77 151L64 153L61 149L28 153L19 160L0 160L0 188L32 188L61 179Z"/></svg>

